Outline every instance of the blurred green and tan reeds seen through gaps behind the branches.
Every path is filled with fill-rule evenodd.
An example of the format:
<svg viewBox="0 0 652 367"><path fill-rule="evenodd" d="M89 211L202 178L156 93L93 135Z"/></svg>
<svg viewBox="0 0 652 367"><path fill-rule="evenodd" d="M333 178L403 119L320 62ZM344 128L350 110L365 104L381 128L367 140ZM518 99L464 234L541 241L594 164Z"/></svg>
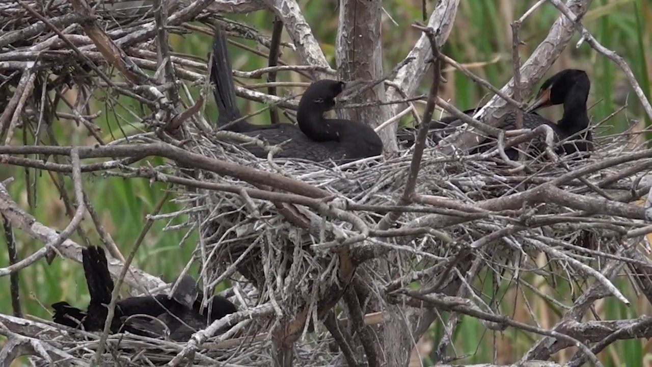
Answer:
<svg viewBox="0 0 652 367"><path fill-rule="evenodd" d="M510 23L519 18L524 11L535 1L526 0L462 0L458 10L456 23L451 36L443 48L443 52L456 61L466 65L475 74L486 78L495 86L502 86L511 78L511 27ZM327 59L334 65L334 42L337 27L337 1L335 0L301 0L299 1L308 24L312 30ZM403 59L409 52L414 41L418 39L419 32L410 25L415 20L421 20L421 0L385 0L383 7L387 14L383 15L383 47L385 70L391 69L398 61ZM432 10L434 1L428 1L428 10ZM526 42L526 46L520 48L521 59L524 61L531 51L541 42L548 33L550 25L556 20L559 13L550 4L546 3L532 16L527 18L521 27L520 38ZM229 15L228 18L239 22L246 22L254 25L264 35L271 35L273 14L270 12L254 12L251 14ZM623 56L636 74L638 82L649 97L651 93L649 75L652 72L652 61L650 49L652 48L652 3L649 0L594 0L589 12L583 19L583 23L591 33L607 48L610 48ZM283 34L284 40L289 40L287 33ZM231 38L246 46L258 48L263 52L266 49L257 46L250 40ZM623 131L630 123L638 123L638 128L646 125L644 112L640 103L623 72L612 61L597 54L583 44L575 48L579 36L575 35L569 47L556 61L548 76L561 69L574 67L584 69L589 74L593 84L589 97L589 106L595 104L589 111L593 122L602 121L620 106L627 103L627 107L614 118L600 125L599 133L615 133ZM173 35L170 39L171 46L176 52L193 54L205 59L210 52L211 37L200 33L186 34L183 37ZM234 69L250 71L266 66L267 60L263 57L252 56L250 52L230 46L231 63ZM297 57L289 49L284 49L282 59L290 64L297 63ZM448 70L446 72L447 84L441 87L442 96L450 99L458 108L464 110L475 106L479 101L486 101L491 95L477 84L468 80L460 72ZM428 78L425 78L428 80ZM299 81L297 74L282 72L278 74L277 80ZM303 80L305 81L305 80ZM244 80L244 84L253 84L255 80ZM193 87L194 88L194 87ZM197 88L194 88L196 92ZM281 93L283 88L280 89ZM299 89L297 89L298 91ZM262 89L261 91L264 91ZM427 93L428 85L422 84L421 92ZM102 93L98 92L98 96ZM72 99L74 101L74 98ZM101 136L105 142L121 138L134 131L142 129L140 123L130 125L126 121L133 120L125 111L137 110L128 106L128 100L120 100L125 106L118 106L115 112L108 111L107 104L96 102L93 104L97 110L104 111L102 117L95 122L102 129ZM244 113L252 112L261 108L262 105L250 101L238 99L238 104ZM561 107L550 108L550 112L544 114L550 118L560 116ZM122 111L122 112L121 112ZM107 113L108 112L108 113ZM207 116L216 116L216 108L213 101L209 102L206 108ZM260 114L252 118L256 123L267 123L269 114ZM284 119L284 118L282 118ZM215 120L215 119L212 119ZM409 123L406 118L403 123ZM91 145L95 139L82 127L77 127L71 121L55 121L53 131L56 140L61 145ZM23 136L17 133L14 144L23 144ZM33 144L33 139L27 137L27 143ZM159 159L149 160L153 165L162 163ZM31 181L29 186L36 193L35 205L30 208L27 199L25 180L25 169L16 167L1 167L0 179L9 176L15 178L8 189L12 197L18 201L22 208L25 208L35 215L42 223L58 230L62 230L70 220L67 214L61 193L53 182L65 183L65 190L69 197L72 197L72 185L70 179L63 178L57 174L47 172L34 172L31 170ZM145 223L145 216L151 214L158 202L164 197L167 185L162 183L150 184L147 180L103 177L101 175L86 175L84 189L91 197L96 212L100 216L106 231L110 232L113 240L119 246L123 254L128 255L136 238L140 234ZM173 188L176 191L178 188ZM171 195L170 198L174 198ZM175 212L182 208L181 204L167 200L162 211ZM173 219L172 224L183 223L185 217L179 216ZM164 279L173 279L186 262L190 259L194 249L197 234L192 233L183 244L182 238L186 230L162 231L168 224L165 220L156 221L152 229L147 233L145 241L141 245L134 265L143 270L160 275ZM98 235L90 217L87 216L82 223L83 231L89 236L93 244L98 244ZM43 246L42 243L27 238L22 232L16 231L19 258L23 259ZM77 233L72 239L83 244ZM180 247L181 245L181 247ZM0 251L0 264L8 264L7 252ZM194 265L190 274L196 274L197 266ZM488 279L484 279L488 280ZM546 293L550 292L549 285L541 279L532 278L530 283L539 283L539 289ZM486 281L490 287L491 281ZM638 300L627 279L621 279L618 283L620 289L634 300L630 308L625 308L612 299L597 302L596 310L604 319L637 317L650 311L646 300ZM67 300L71 304L83 305L89 300L86 283L83 278L82 266L72 261L55 259L48 265L44 260L38 261L29 268L20 272L20 286L22 292L23 312L50 319L50 311L47 309L53 302ZM220 285L222 289L226 284ZM0 278L0 287L6 289L6 296L0 298L0 312L11 313L10 298L8 296L9 278ZM219 290L218 289L218 290ZM490 291L488 289L487 291ZM569 288L563 287L556 291L570 298ZM501 311L505 315L512 315L514 319L531 323L532 320L524 311L524 299L520 291L514 291L512 287L505 286L501 289L505 298L501 304ZM537 314L537 319L542 326L552 326L557 319L557 312L554 306L542 302L540 298L528 296L529 306ZM432 360L427 355L437 345L437 338L441 335L439 323L435 323L430 332L419 342L418 348L422 355L424 366L430 366ZM496 350L497 362L513 362L526 351L535 336L530 334L514 332L509 329L502 334L486 332L484 327L477 321L464 317L464 322L458 327L454 335L454 345L458 355L470 354L471 357L460 360L464 363L489 362L493 359ZM652 366L644 356L651 350L651 345L645 341L634 340L617 342L608 347L599 357L605 366ZM450 349L452 351L452 349ZM572 356L572 350L563 351L556 355L556 359L563 361ZM413 361L417 363L417 360ZM415 364L419 365L419 364Z"/></svg>

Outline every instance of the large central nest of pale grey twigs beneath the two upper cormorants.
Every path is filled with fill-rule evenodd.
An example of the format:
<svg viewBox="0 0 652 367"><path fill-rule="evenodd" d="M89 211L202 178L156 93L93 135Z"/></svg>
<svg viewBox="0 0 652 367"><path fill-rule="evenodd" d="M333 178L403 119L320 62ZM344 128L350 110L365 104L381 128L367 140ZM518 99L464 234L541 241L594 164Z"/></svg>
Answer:
<svg viewBox="0 0 652 367"><path fill-rule="evenodd" d="M491 272L496 278L517 277L519 272L535 271L537 257L543 253L549 263L536 270L537 274L584 284L585 278L599 273L594 269L602 268L623 245L634 251L648 247L642 236L623 242L623 234L643 223L624 220L615 212L610 215L608 210L602 215L591 214L578 206L564 205L569 198L545 200L539 196L495 212L478 206L556 180L563 180L558 189L573 195L572 200L640 199L649 190L647 179L641 183L647 170L637 169L643 167L640 161L617 168L587 169L604 163L606 157L632 153L613 136L597 141L598 149L590 158L574 161L557 157L559 161L553 163L540 156L521 170L486 158L491 153L450 157L443 156L437 147L427 148L416 181L418 204L404 208L386 231L375 228L400 202L408 185L413 150L402 150L391 159L366 159L337 167L282 160L271 163L201 133L194 138L193 149L201 155L281 174L332 195L319 208L298 204L300 200L288 204L292 200L281 197L278 201L254 200L243 195L244 189L260 189L261 185L213 172L199 173L201 182L243 190L199 190L188 193L186 200L201 210L200 246L201 253L206 254L202 262L212 274L209 281L232 277L236 287L250 289L246 286L249 283L256 289L250 295L255 295L258 304L283 305L282 313L270 313L268 326L257 330L278 326L288 313L301 313L306 308L317 313L319 302L328 298L324 283L337 281L340 251L345 248L366 256L359 259L354 283L366 289L363 300L374 305L366 309L370 311L406 302L394 297L415 274L420 274L417 278L422 287L437 283L430 291L447 294L458 287L456 276L449 274L451 270L457 276L469 272L483 278ZM573 174L583 169L587 174ZM554 193L542 191L541 195ZM383 266L387 273L375 270ZM424 269L432 273L424 276ZM469 278L469 283L474 278ZM309 328L306 323L303 331Z"/></svg>

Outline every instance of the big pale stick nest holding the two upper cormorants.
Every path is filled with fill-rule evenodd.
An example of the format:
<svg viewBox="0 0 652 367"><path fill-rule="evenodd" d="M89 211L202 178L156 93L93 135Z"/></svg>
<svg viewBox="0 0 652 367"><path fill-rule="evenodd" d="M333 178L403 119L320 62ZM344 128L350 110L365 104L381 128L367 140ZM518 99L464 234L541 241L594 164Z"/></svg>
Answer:
<svg viewBox="0 0 652 367"><path fill-rule="evenodd" d="M237 270L266 295L287 295L283 291L286 281L297 282L296 287L308 290L314 287L315 279L332 277L331 269L325 264L331 263L333 249L352 238L353 249L375 248L377 255L391 249L397 256L392 260L393 279L407 277L411 272L441 261L452 261L460 254L460 248L469 245L474 248L474 255L482 257L483 266L491 269L490 264L507 261L511 264L505 266L512 267L516 274L515 267L520 261L534 261L547 247L561 250L552 255L561 257L556 261L565 263L580 257L586 265L599 267L597 263L604 259L591 255L600 250L614 251L622 246L619 233L627 233L632 226L645 225L609 215L611 210L604 210L603 215L582 210L595 208L605 195L621 202L634 202L649 189L649 185L640 183L647 170L638 170L643 167L636 160L617 168L588 169L590 172L586 175L572 174L604 163L606 157L622 155L622 142L609 142L612 138L597 144L599 149L589 159L529 162L527 170L517 172L511 172L513 167L497 164L492 159L483 160L479 154L445 157L438 148L428 148L424 151L426 158L415 190L421 194L417 199L421 205L404 208L406 212L393 229L379 231L380 235L376 236L373 233L359 235L364 231L373 232L383 215L393 208L393 203L400 200L408 183L411 151L402 151L400 157L385 159L382 163L367 159L342 167L281 160L270 164L234 150L224 142L201 134L196 138L197 152L202 155L278 172L333 195L325 200L330 205L323 210L295 206L297 215L309 224L307 228L297 229L292 219L284 215L280 201L252 200L241 193L219 191L188 194L188 200L199 198L203 203L194 206L201 208L199 222L205 246L202 253L209 254L203 262L215 266L215 276L222 279ZM231 187L258 187L213 172L200 172L198 179ZM571 194L571 199L551 197L546 200L545 196L555 195L556 190L542 191L537 199L518 200L516 205L505 199L513 199L516 193L555 180L563 180L558 192ZM564 205L567 200L577 201ZM505 209L483 210L477 205L479 202L492 202L494 208ZM350 216L337 217L337 213L342 213L339 210ZM513 231L490 236L501 229ZM642 239L633 238L629 245L636 246ZM512 263L519 258L517 263ZM586 268L571 266L567 270L569 276L576 276L585 274ZM378 286L387 283L383 279L384 275L378 274L366 281L369 287L382 293L382 287Z"/></svg>

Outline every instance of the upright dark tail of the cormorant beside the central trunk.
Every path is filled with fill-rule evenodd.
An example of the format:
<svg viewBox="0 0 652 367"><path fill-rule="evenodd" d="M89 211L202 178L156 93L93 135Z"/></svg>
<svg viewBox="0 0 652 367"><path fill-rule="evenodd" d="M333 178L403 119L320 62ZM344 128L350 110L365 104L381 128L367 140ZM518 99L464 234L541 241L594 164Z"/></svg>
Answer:
<svg viewBox="0 0 652 367"><path fill-rule="evenodd" d="M226 48L226 34L219 27L215 29L215 38L213 39L213 65L211 66L211 82L215 84L213 97L217 104L217 110L220 113L218 123L224 126L227 123L239 119L240 110L235 104L235 85L233 84L233 75L231 75L231 61L229 61L229 52ZM240 123L231 125L230 131L239 131Z"/></svg>

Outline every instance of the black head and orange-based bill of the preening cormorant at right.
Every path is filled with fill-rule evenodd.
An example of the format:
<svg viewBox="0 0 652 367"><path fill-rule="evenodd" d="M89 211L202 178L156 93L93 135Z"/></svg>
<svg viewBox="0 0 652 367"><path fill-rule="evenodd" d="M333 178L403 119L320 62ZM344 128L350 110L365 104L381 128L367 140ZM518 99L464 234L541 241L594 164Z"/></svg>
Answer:
<svg viewBox="0 0 652 367"><path fill-rule="evenodd" d="M585 89L578 91L578 88ZM542 107L565 103L571 93L580 93L586 97L591 82L586 72L579 69L565 69L557 72L541 84L537 99L530 104L526 112L533 112Z"/></svg>

